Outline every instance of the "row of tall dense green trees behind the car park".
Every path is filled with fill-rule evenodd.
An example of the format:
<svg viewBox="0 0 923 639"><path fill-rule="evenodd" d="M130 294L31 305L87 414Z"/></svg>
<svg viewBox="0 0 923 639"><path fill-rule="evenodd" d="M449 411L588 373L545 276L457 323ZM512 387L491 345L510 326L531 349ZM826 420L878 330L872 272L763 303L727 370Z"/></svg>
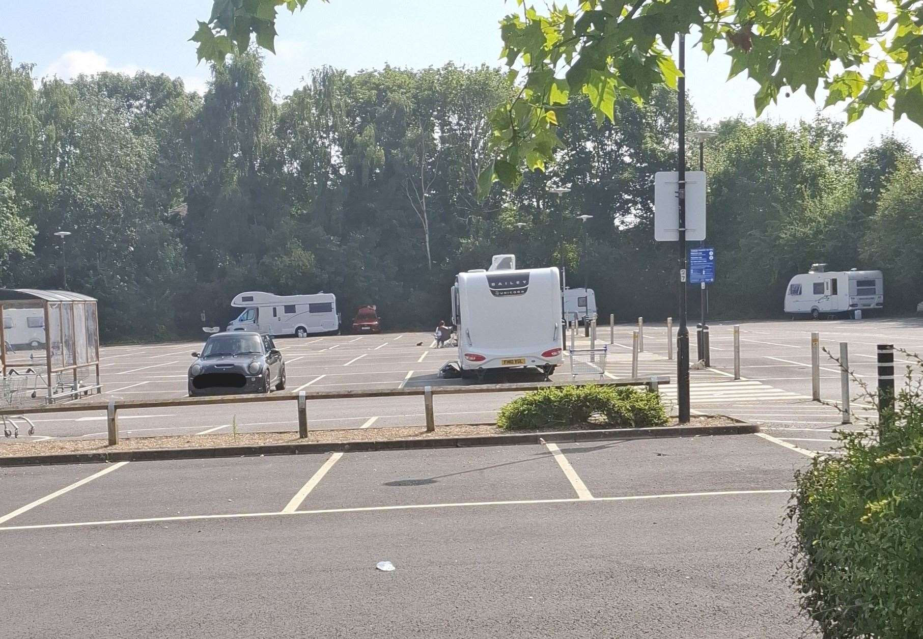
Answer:
<svg viewBox="0 0 923 639"><path fill-rule="evenodd" d="M675 91L616 100L602 126L574 93L545 171L479 198L488 114L510 91L499 69L448 64L321 68L280 98L252 52L216 64L204 96L144 72L35 81L0 41L0 276L58 287L53 234L72 231L69 287L101 300L109 340L201 334L201 311L223 324L252 289L324 290L347 319L377 304L391 329L431 328L455 273L505 252L566 267L618 320L675 314L676 247L652 229L653 174L675 164ZM687 127L701 127L691 110ZM815 261L881 268L892 309L923 299L923 174L904 143L849 159L841 125L822 118L714 128L713 316L779 315L785 283Z"/></svg>

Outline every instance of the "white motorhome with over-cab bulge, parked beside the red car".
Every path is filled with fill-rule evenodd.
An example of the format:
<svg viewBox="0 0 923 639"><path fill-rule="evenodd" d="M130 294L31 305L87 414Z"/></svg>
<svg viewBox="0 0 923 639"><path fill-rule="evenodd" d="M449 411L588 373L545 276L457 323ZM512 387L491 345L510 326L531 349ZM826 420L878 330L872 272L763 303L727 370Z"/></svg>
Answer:
<svg viewBox="0 0 923 639"><path fill-rule="evenodd" d="M228 324L228 331L306 337L311 333L340 330L337 298L331 293L273 295L247 291L234 296L231 306L244 308L244 311Z"/></svg>

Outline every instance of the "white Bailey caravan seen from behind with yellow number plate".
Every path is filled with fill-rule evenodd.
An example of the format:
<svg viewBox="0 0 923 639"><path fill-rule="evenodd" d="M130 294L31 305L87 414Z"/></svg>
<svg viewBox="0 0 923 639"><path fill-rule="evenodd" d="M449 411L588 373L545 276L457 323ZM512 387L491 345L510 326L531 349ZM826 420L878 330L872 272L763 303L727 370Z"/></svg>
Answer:
<svg viewBox="0 0 923 639"><path fill-rule="evenodd" d="M497 258L491 271L459 273L452 286L462 377L532 367L550 375L562 359L560 275L556 268L516 270L514 258Z"/></svg>

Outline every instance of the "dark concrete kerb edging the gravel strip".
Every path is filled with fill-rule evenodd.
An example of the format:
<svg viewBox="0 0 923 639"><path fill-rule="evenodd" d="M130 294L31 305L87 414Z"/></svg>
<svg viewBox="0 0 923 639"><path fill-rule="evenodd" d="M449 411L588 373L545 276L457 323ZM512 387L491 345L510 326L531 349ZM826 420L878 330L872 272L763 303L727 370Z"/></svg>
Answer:
<svg viewBox="0 0 923 639"><path fill-rule="evenodd" d="M293 441L280 444L246 446L212 446L202 448L152 448L137 451L70 452L50 455L0 457L0 467L55 464L108 464L114 462L154 462L182 459L212 459L216 457L255 457L258 455L294 455L324 452L375 452L432 448L475 448L539 444L541 440L569 443L598 440L649 440L671 437L701 437L716 435L750 435L760 432L760 426L732 417L734 424L720 426L668 426L662 428L599 428L593 430L558 430L549 432L507 433L459 437L434 437L422 440L370 441ZM421 427L422 428L422 427Z"/></svg>

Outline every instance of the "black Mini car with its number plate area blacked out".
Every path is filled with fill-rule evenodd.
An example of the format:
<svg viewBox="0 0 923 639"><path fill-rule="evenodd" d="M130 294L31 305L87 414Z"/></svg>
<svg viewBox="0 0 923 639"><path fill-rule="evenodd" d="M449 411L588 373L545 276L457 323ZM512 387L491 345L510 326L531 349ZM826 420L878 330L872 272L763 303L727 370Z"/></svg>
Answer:
<svg viewBox="0 0 923 639"><path fill-rule="evenodd" d="M270 392L285 388L285 362L269 335L258 332L218 332L202 353L193 353L189 396Z"/></svg>

